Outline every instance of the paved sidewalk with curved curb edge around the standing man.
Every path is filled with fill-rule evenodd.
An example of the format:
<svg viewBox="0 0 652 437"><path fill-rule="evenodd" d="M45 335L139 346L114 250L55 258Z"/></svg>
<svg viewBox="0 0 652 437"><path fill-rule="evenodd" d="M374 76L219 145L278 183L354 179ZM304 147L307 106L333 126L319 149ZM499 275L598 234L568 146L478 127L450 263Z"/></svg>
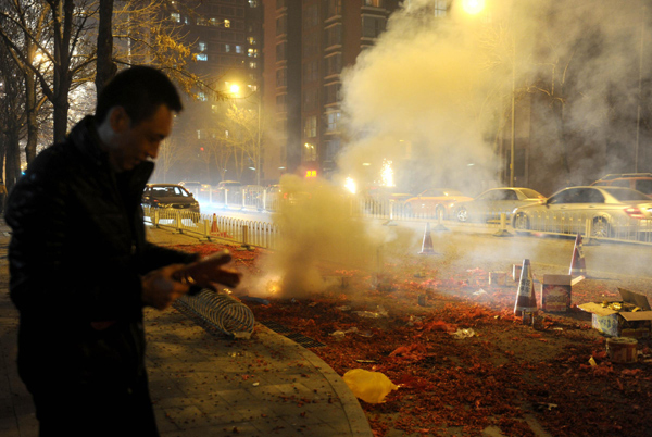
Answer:
<svg viewBox="0 0 652 437"><path fill-rule="evenodd" d="M17 312L0 222L0 435L38 435L15 369ZM150 229L152 241L197 239ZM250 339L212 335L177 310L146 311L150 390L162 436L372 436L358 399L310 350L258 324Z"/></svg>

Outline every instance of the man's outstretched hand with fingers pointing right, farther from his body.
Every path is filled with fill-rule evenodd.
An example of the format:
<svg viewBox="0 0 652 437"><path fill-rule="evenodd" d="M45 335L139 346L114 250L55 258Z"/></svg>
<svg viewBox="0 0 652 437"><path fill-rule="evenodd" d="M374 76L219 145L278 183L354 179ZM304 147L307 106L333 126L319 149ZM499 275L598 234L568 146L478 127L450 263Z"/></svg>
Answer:
<svg viewBox="0 0 652 437"><path fill-rule="evenodd" d="M176 272L173 277L183 284L191 287L190 294L197 294L202 288L215 288L215 284L225 285L234 288L240 283L241 274L230 269L222 266L231 260L228 250L222 250L210 257L188 264Z"/></svg>

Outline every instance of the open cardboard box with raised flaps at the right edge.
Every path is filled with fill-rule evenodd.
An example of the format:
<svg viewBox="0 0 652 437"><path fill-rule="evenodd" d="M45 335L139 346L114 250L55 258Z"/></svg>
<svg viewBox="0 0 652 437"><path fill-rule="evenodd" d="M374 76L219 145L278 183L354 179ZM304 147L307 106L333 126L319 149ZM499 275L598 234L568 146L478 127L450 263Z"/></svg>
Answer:
<svg viewBox="0 0 652 437"><path fill-rule="evenodd" d="M622 309L603 307L602 302L582 303L579 308L592 313L593 328L610 337L650 337L652 311L644 295L618 288ZM609 302L614 303L614 302Z"/></svg>

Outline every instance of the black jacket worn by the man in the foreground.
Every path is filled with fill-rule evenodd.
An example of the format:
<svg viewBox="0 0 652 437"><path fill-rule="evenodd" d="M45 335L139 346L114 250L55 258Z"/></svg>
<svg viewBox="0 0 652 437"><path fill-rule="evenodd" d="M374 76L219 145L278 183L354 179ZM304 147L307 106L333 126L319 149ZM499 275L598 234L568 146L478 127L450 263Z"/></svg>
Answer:
<svg viewBox="0 0 652 437"><path fill-rule="evenodd" d="M145 374L140 275L196 259L146 241L140 199L152 170L146 162L113 172L86 117L11 190L10 292L21 314L18 371L30 390L128 389Z"/></svg>

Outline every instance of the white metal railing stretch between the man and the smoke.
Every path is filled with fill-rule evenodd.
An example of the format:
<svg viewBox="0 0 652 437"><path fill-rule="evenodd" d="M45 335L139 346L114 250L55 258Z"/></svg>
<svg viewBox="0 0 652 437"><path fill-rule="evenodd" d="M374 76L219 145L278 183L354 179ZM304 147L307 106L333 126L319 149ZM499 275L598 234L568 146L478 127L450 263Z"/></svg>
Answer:
<svg viewBox="0 0 652 437"><path fill-rule="evenodd" d="M208 240L220 238L237 241L242 246L258 246L267 249L278 247L280 233L278 226L273 223L147 205L143 205L142 209L145 222L155 227Z"/></svg>

